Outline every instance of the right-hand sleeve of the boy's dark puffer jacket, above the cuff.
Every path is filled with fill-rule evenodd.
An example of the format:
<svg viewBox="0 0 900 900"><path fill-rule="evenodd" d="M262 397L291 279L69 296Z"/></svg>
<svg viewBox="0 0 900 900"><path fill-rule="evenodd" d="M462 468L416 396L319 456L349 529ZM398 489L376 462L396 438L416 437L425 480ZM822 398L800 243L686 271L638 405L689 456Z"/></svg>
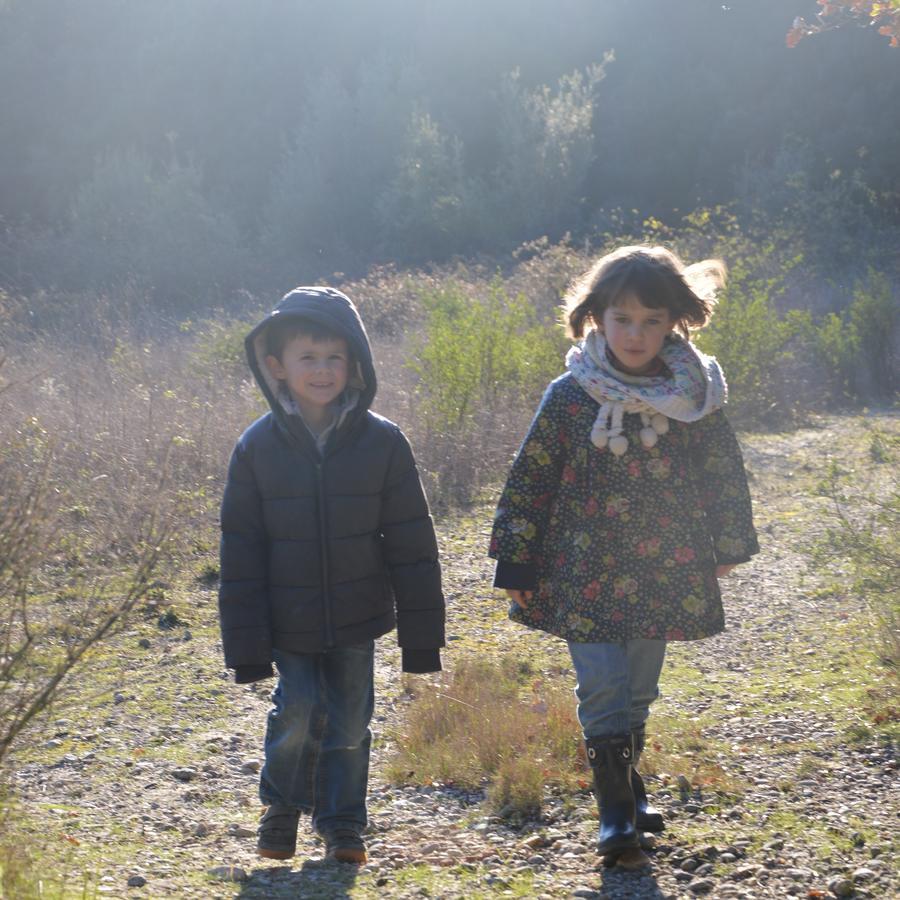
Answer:
<svg viewBox="0 0 900 900"><path fill-rule="evenodd" d="M444 646L444 594L437 539L412 449L397 431L381 506L382 552L404 650Z"/></svg>

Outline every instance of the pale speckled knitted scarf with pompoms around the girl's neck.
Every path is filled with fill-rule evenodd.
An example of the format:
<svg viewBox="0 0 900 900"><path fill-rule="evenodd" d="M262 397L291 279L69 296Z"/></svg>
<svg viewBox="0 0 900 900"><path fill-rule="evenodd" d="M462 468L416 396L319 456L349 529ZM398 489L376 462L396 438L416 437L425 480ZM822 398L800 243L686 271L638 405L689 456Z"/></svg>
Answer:
<svg viewBox="0 0 900 900"><path fill-rule="evenodd" d="M628 449L622 416L640 415L641 443L653 447L669 430L669 419L696 422L725 404L728 388L719 364L690 341L670 334L659 358L671 374L631 376L619 372L607 356L606 340L596 330L569 350L566 368L600 410L591 429L595 446L621 456Z"/></svg>

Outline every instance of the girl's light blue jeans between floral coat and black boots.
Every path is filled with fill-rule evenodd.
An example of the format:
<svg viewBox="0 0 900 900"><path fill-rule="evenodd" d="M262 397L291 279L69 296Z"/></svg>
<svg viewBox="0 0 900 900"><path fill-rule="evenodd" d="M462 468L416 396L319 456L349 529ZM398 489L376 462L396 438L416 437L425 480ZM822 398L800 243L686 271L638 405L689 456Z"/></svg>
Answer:
<svg viewBox="0 0 900 900"><path fill-rule="evenodd" d="M578 677L578 721L585 738L642 728L659 696L665 641L569 642Z"/></svg>

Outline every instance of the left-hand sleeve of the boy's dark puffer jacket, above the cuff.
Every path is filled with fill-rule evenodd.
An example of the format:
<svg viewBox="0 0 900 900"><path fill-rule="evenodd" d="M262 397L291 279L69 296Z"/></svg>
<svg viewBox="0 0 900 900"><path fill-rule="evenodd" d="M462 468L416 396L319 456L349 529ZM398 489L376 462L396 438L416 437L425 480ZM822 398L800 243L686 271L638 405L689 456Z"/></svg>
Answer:
<svg viewBox="0 0 900 900"><path fill-rule="evenodd" d="M228 668L272 659L267 599L268 548L256 480L239 443L222 499L219 623Z"/></svg>

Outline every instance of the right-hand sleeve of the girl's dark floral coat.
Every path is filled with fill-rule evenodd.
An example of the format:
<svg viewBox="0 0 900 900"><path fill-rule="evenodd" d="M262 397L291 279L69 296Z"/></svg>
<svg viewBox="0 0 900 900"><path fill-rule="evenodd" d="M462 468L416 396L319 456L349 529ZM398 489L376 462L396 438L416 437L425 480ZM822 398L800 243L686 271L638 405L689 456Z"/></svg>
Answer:
<svg viewBox="0 0 900 900"><path fill-rule="evenodd" d="M692 431L694 474L709 523L717 565L747 562L759 553L744 458L722 410Z"/></svg>

